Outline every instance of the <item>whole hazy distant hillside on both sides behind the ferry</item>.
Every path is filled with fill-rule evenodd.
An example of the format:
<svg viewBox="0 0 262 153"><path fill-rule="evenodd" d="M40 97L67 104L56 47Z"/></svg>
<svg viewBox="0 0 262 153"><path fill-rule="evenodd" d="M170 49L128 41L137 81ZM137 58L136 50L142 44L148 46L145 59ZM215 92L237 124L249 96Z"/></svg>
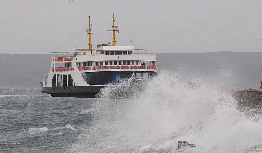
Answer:
<svg viewBox="0 0 262 153"><path fill-rule="evenodd" d="M262 53L157 53L158 69L186 80L205 80L226 88L259 87ZM0 87L40 87L50 55L0 54Z"/></svg>

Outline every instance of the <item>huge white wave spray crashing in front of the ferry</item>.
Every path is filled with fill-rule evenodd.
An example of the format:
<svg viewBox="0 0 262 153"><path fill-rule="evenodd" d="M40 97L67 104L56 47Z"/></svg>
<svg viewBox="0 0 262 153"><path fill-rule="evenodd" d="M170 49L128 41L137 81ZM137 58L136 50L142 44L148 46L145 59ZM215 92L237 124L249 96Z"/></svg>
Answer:
<svg viewBox="0 0 262 153"><path fill-rule="evenodd" d="M260 118L246 117L232 96L214 84L191 89L175 78L162 74L129 99L101 98L99 115L71 151L262 152ZM196 148L177 150L178 141Z"/></svg>

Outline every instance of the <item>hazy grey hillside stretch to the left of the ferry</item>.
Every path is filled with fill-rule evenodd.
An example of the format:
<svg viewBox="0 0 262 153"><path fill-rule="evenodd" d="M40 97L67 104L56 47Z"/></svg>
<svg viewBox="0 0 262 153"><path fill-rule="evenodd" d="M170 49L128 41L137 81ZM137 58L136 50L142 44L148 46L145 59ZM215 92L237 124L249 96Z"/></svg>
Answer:
<svg viewBox="0 0 262 153"><path fill-rule="evenodd" d="M0 54L0 87L40 87L50 68L47 54Z"/></svg>

